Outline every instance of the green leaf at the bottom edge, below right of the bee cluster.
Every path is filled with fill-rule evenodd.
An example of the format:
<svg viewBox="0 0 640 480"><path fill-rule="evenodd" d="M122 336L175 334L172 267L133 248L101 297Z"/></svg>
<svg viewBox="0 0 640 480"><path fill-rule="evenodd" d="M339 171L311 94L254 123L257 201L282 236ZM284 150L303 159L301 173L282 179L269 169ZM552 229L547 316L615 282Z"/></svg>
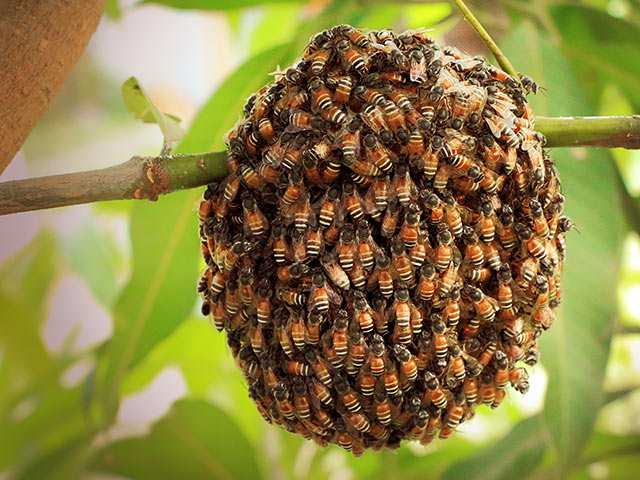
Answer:
<svg viewBox="0 0 640 480"><path fill-rule="evenodd" d="M526 478L538 466L546 448L546 430L539 415L523 420L504 437L451 465L443 480Z"/></svg>

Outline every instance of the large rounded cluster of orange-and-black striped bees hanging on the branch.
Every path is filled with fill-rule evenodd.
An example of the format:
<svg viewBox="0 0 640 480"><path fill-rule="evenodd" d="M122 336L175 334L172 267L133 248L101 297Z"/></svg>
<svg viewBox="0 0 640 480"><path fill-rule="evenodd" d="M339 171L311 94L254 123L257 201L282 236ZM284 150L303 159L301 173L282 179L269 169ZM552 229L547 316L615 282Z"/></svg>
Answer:
<svg viewBox="0 0 640 480"><path fill-rule="evenodd" d="M199 291L265 420L361 454L526 392L571 227L536 89L343 25L249 99L200 205Z"/></svg>

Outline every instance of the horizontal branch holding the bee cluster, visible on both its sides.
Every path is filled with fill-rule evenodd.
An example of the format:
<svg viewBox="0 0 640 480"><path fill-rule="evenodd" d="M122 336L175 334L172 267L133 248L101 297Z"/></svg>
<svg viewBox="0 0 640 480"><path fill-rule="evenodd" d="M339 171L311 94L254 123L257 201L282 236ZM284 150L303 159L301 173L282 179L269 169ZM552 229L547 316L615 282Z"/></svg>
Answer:
<svg viewBox="0 0 640 480"><path fill-rule="evenodd" d="M538 117L547 147L640 148L640 117ZM133 157L88 172L0 183L0 215L103 200L148 199L207 185L227 174L226 153Z"/></svg>

